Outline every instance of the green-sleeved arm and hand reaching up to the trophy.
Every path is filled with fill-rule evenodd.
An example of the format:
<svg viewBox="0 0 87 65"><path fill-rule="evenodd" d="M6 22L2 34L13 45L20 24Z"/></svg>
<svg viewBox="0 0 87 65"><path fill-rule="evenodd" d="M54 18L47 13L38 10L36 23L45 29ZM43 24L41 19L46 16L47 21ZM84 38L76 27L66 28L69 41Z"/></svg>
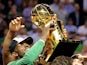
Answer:
<svg viewBox="0 0 87 65"><path fill-rule="evenodd" d="M29 64L33 65L33 62L38 58L40 53L42 52L44 46L45 46L45 41L47 39L48 35L48 30L43 29L42 31L42 37L39 41L37 41L21 58L20 60L10 62L8 65L23 65L23 64Z"/></svg>

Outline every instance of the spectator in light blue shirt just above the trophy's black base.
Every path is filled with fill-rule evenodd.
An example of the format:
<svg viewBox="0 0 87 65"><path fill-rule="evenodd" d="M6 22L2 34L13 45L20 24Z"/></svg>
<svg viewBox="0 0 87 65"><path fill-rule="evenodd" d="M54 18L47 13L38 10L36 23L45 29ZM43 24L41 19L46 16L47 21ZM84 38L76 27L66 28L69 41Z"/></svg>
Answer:
<svg viewBox="0 0 87 65"><path fill-rule="evenodd" d="M65 26L65 28L68 32L69 38L72 38L72 35L77 33L77 27L75 25L73 25L73 20L72 19L68 20L67 25Z"/></svg>

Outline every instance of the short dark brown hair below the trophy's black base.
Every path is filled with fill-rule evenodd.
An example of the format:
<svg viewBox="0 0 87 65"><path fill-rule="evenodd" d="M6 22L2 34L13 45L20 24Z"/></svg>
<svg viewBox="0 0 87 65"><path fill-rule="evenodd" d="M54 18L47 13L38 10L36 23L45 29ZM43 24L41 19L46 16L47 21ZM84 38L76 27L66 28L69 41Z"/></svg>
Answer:
<svg viewBox="0 0 87 65"><path fill-rule="evenodd" d="M72 65L73 59L67 56L58 56L56 57L51 65Z"/></svg>

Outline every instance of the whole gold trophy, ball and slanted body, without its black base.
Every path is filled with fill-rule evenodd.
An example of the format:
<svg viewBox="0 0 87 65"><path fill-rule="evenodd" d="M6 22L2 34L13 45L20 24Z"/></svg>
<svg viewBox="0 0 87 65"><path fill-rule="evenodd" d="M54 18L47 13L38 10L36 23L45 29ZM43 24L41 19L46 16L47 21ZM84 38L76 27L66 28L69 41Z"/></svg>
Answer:
<svg viewBox="0 0 87 65"><path fill-rule="evenodd" d="M39 28L50 27L51 29L47 39L47 41L49 41L47 43L50 45L50 49L48 50L48 46L46 45L42 53L44 60L47 62L53 53L54 48L59 43L59 40L64 38L62 30L57 24L57 16L49 5L38 4L31 11L31 20L33 24Z"/></svg>

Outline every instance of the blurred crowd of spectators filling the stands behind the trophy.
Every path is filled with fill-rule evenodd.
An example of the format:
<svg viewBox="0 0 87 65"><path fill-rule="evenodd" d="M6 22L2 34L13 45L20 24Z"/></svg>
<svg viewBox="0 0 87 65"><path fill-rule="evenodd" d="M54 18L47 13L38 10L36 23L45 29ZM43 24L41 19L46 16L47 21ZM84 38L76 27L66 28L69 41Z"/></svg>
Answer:
<svg viewBox="0 0 87 65"><path fill-rule="evenodd" d="M43 3L43 2L42 2ZM49 4L58 19L63 20L68 33L68 38L82 40L83 47L80 53L87 54L87 0L82 4L77 0L53 0ZM39 4L38 0L0 0L0 63L2 65L2 45L8 32L9 22L18 16L23 17L22 29L17 34L28 35L34 39L34 43L40 38L41 30L32 24L30 14L32 8ZM47 3L48 4L48 3ZM81 10L82 9L82 10Z"/></svg>

